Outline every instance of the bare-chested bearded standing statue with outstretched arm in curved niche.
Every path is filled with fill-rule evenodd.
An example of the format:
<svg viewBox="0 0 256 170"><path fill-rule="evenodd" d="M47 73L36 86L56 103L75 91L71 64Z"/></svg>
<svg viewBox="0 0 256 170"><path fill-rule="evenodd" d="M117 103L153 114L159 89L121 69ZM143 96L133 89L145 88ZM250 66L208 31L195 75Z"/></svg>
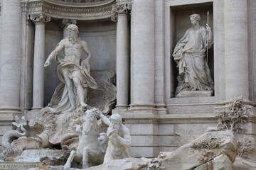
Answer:
<svg viewBox="0 0 256 170"><path fill-rule="evenodd" d="M87 43L78 38L78 26L71 24L67 28L68 38L61 40L55 50L50 53L44 67L57 57L58 52L65 49L65 57L58 61L58 77L61 83L55 89L49 107L53 112L72 112L84 108L87 88L97 89L95 79L90 76L90 59L92 54ZM82 50L87 58L81 62Z"/></svg>

